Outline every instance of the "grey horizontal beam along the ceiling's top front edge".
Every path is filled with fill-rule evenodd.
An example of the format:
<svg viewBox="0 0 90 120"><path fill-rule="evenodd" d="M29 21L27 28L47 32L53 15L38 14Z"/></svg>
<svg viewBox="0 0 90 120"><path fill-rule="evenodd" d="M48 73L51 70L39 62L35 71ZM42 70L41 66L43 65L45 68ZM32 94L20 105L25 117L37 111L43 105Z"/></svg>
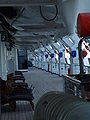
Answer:
<svg viewBox="0 0 90 120"><path fill-rule="evenodd" d="M0 0L0 6L53 5L59 0Z"/></svg>

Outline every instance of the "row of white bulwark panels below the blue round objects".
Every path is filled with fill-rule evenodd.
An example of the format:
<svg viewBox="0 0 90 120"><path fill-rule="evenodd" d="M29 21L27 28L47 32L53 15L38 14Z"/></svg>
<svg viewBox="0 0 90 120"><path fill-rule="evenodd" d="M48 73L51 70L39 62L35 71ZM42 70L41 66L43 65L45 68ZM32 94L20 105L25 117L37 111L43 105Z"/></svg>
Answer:
<svg viewBox="0 0 90 120"><path fill-rule="evenodd" d="M60 66L60 67L59 67ZM73 68L73 74L79 74L80 73L80 66L79 64L72 64ZM67 75L68 74L68 69L70 68L70 64L66 64L64 62L56 63L54 61L52 62L47 62L47 61L36 61L36 67L45 69L46 71L60 74L62 75ZM60 69L60 71L59 71ZM90 67L89 66L84 66L84 72L86 74L90 73Z"/></svg>

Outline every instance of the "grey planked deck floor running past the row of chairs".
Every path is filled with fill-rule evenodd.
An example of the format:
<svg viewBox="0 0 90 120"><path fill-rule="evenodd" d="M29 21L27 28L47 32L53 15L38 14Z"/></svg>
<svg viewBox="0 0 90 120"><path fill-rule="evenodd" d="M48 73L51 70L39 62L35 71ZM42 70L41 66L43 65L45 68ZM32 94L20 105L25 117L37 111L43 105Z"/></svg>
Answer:
<svg viewBox="0 0 90 120"><path fill-rule="evenodd" d="M48 91L64 91L64 80L57 75L31 68L24 73L24 76L28 85L35 87L33 90L35 105L38 99ZM2 108L1 120L33 120L33 115L29 102L18 101L16 112L12 112L8 105Z"/></svg>

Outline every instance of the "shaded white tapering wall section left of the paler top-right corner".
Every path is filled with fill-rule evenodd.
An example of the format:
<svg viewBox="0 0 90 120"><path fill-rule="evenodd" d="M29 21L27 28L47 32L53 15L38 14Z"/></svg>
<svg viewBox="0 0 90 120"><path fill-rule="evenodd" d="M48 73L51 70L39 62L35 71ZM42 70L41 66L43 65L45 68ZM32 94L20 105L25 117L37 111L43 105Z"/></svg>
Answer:
<svg viewBox="0 0 90 120"><path fill-rule="evenodd" d="M62 15L68 27L68 33L73 34L75 31L75 21L78 12L78 0L67 0L62 4Z"/></svg>

